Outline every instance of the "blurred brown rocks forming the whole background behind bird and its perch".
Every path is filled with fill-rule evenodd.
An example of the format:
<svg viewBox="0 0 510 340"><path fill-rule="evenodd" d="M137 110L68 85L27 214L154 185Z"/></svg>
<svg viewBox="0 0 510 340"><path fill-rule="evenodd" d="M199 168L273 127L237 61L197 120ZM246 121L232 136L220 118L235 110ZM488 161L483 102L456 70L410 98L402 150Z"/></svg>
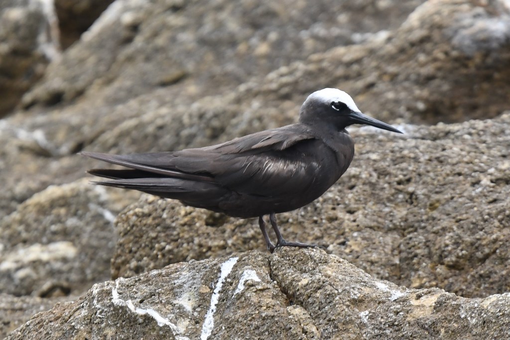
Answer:
<svg viewBox="0 0 510 340"><path fill-rule="evenodd" d="M264 251L255 221L90 186L76 152L222 142L324 87L405 135L351 128L350 169L279 216L286 237L407 287L507 292L508 79L505 0L3 1L0 336L95 282Z"/></svg>

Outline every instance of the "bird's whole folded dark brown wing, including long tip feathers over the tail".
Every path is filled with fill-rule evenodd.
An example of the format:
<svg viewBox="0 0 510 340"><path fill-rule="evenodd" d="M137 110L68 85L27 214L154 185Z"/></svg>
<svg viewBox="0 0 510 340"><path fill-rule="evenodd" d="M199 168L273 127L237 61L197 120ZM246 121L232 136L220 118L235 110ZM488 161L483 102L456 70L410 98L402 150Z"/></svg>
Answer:
<svg viewBox="0 0 510 340"><path fill-rule="evenodd" d="M303 153L303 145L308 145L309 152ZM320 167L317 162L320 156L315 156L313 151L322 145L308 127L294 124L218 145L175 152L82 153L158 175L217 182L231 190L255 195L277 195L279 191L299 192L313 185Z"/></svg>

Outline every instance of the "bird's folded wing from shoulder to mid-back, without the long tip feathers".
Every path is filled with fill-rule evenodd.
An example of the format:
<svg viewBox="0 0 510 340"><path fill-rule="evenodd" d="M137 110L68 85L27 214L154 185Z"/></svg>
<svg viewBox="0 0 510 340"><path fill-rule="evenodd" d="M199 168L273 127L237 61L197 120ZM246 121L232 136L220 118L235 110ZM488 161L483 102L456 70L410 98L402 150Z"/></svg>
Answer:
<svg viewBox="0 0 510 340"><path fill-rule="evenodd" d="M205 148L176 151L167 166L212 176L223 187L239 193L277 196L302 192L317 180L324 164L322 155L331 150L308 127L299 125Z"/></svg>

